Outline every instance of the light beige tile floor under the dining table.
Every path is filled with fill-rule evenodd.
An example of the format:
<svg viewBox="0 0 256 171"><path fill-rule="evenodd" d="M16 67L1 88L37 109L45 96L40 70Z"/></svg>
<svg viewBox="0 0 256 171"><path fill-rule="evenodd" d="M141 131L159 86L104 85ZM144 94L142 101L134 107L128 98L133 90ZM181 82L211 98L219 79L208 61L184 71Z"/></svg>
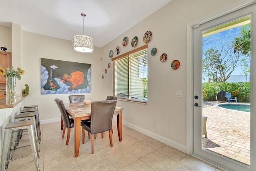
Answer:
<svg viewBox="0 0 256 171"><path fill-rule="evenodd" d="M94 141L94 154L91 154L91 143L86 134L85 143L81 141L80 144L79 156L74 157L73 129L69 145L66 145L66 137L61 139L59 122L41 125L40 171L221 171L126 126L123 126L120 142L114 121L113 128L113 147L110 147L108 132L104 133L103 139L98 134ZM22 140L26 139L28 135L22 136ZM25 143L28 142L20 142L19 146ZM16 149L13 158L30 153L30 146ZM32 156L11 161L7 169L35 170Z"/></svg>

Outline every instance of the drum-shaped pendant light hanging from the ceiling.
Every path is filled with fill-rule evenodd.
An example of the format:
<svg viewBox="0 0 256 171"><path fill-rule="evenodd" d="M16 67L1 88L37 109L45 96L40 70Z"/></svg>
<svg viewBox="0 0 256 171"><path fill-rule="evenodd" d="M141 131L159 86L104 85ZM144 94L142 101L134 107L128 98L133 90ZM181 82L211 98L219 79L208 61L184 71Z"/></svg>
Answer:
<svg viewBox="0 0 256 171"><path fill-rule="evenodd" d="M84 29L84 17L86 16L86 14L82 12L81 16L83 17L83 29ZM85 35L74 36L73 50L76 52L82 52L82 53L92 53L94 51L92 38Z"/></svg>

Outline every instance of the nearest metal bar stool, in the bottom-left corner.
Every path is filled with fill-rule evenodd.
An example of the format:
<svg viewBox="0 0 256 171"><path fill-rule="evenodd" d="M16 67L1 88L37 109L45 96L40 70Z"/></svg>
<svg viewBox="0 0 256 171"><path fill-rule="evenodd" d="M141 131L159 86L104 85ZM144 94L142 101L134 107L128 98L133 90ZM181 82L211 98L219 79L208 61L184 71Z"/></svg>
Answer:
<svg viewBox="0 0 256 171"><path fill-rule="evenodd" d="M34 162L36 169L39 171L39 165L38 165L38 151L36 148L36 131L35 131L35 125L33 120L26 120L26 121L17 121L17 122L10 122L4 127L4 143L3 143L3 150L2 150L2 158L1 158L1 164L0 164L0 171L4 171L6 168L8 168L9 162L15 159L11 159L10 157L10 151L12 146L12 140L16 139L14 137L14 133L19 131L20 129L27 129L28 135L30 139L30 145L32 148L32 154L34 155ZM30 155L22 156L27 157ZM18 157L16 159L20 159L22 157Z"/></svg>

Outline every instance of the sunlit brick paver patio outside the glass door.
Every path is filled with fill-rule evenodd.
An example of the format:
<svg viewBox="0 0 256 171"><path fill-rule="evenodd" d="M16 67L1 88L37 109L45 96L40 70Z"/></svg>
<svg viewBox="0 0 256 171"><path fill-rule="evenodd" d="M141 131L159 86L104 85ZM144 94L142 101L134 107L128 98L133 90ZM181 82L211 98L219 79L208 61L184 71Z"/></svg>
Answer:
<svg viewBox="0 0 256 171"><path fill-rule="evenodd" d="M203 102L203 116L208 117L203 148L250 165L250 112L217 106L223 103Z"/></svg>

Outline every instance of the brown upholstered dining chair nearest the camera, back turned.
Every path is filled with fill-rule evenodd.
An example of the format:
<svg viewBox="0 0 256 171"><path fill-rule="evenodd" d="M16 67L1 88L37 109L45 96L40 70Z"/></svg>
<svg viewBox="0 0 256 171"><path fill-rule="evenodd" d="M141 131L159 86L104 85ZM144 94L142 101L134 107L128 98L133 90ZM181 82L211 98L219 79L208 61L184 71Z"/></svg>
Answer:
<svg viewBox="0 0 256 171"><path fill-rule="evenodd" d="M91 134L92 154L94 153L94 135L108 131L110 146L113 147L111 125L114 110L116 108L116 100L92 101L91 119L83 122L82 125L82 142L84 144L85 130Z"/></svg>

